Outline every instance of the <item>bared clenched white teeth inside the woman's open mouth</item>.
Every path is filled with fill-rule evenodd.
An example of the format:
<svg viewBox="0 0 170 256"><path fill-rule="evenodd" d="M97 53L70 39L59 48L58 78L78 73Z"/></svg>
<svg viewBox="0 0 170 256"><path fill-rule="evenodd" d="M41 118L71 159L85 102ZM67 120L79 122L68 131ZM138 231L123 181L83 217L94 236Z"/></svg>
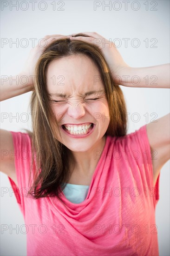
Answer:
<svg viewBox="0 0 170 256"><path fill-rule="evenodd" d="M62 128L65 130L65 132L67 132L68 134L72 134L72 135L85 135L90 133L90 131L92 130L94 124L93 123L89 123L84 124L84 125L62 125Z"/></svg>

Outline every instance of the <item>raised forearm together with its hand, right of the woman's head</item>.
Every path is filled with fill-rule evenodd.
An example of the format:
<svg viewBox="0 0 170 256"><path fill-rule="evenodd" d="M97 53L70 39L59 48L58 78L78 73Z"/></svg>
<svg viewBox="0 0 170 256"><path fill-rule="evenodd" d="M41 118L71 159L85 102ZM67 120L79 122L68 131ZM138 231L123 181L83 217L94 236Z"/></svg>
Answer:
<svg viewBox="0 0 170 256"><path fill-rule="evenodd" d="M152 67L130 67L115 44L96 32L82 32L87 36L72 34L71 40L82 40L98 47L105 57L115 85L144 88L170 88L170 64Z"/></svg>

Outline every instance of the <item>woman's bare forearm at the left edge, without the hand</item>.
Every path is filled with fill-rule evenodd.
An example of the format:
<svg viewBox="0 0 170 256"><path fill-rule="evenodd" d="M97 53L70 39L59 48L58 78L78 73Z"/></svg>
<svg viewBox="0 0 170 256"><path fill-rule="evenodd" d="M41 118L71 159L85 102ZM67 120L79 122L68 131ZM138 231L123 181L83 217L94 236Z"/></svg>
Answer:
<svg viewBox="0 0 170 256"><path fill-rule="evenodd" d="M26 77L20 74L15 76L1 76L0 80L0 101L25 94L33 90L33 85L27 84Z"/></svg>

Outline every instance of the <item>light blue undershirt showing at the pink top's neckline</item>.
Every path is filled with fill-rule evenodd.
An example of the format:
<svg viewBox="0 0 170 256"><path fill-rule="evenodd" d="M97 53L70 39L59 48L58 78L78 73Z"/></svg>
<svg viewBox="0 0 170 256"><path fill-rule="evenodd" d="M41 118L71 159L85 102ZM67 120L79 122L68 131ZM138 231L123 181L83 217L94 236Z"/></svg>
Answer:
<svg viewBox="0 0 170 256"><path fill-rule="evenodd" d="M70 202L80 203L85 201L88 190L89 186L67 183L63 193Z"/></svg>

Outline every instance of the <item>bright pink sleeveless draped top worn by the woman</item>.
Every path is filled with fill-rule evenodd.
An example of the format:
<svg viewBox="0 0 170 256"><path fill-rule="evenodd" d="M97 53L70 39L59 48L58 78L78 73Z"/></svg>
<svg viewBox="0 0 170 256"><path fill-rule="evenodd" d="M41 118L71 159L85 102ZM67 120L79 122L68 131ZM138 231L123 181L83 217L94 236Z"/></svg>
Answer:
<svg viewBox="0 0 170 256"><path fill-rule="evenodd" d="M31 141L12 132L19 184L9 181L24 216L27 256L157 256L155 208L146 125L121 138L107 136L85 201L26 196Z"/></svg>

